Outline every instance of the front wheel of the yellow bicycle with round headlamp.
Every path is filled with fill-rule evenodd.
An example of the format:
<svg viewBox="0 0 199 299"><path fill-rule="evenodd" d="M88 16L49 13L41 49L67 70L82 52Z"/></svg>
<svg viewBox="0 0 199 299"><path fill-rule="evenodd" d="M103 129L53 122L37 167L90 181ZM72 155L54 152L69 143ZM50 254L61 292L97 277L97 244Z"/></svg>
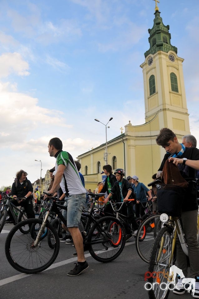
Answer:
<svg viewBox="0 0 199 299"><path fill-rule="evenodd" d="M171 282L168 281L165 273L169 273L172 266L172 240L172 228L163 227L154 241L148 267L149 299L168 298ZM157 275L150 275L150 273L157 273Z"/></svg>

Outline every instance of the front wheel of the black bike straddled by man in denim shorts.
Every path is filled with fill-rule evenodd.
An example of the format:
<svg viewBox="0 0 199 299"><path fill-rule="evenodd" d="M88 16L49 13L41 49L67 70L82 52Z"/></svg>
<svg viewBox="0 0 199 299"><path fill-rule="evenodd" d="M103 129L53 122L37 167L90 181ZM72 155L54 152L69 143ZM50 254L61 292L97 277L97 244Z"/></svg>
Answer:
<svg viewBox="0 0 199 299"><path fill-rule="evenodd" d="M22 273L33 274L47 269L59 253L59 237L49 223L46 224L46 228L54 236L54 249L49 247L47 239L40 240L38 245L34 246L35 238L32 238L31 234L20 232L20 228L24 225L31 227L32 225L41 226L41 224L42 220L40 219L27 219L15 225L7 236L5 244L7 260L13 268Z"/></svg>

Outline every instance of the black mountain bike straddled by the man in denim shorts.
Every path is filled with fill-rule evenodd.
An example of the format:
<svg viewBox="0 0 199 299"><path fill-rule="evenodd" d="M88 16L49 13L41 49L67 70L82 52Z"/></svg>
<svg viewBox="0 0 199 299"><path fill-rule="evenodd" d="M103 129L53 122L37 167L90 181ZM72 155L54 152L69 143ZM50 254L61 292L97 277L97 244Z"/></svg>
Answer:
<svg viewBox="0 0 199 299"><path fill-rule="evenodd" d="M52 194L46 193L48 196ZM93 194L93 196L103 196L104 193ZM59 206L59 205L58 205ZM62 207L62 206L61 206ZM124 249L125 245L125 229L123 224L114 217L102 217L96 220L92 216L92 210L94 204L91 206L89 214L86 214L87 222L85 230L82 232L85 246L88 247L91 256L99 262L107 263L116 259ZM56 259L59 249L60 241L59 235L54 227L48 222L48 216L51 211L55 212L61 219L61 221L67 226L66 220L62 216L60 210L57 207L56 199L52 197L52 202L49 210L46 213L43 221L41 219L28 219L18 223L7 235L5 243L5 253L8 262L16 270L32 274L38 273L48 268ZM108 232L104 226L106 223L114 221L118 225L118 231ZM93 222L90 229L90 223ZM22 235L19 230L24 225L30 225L30 234ZM39 225L39 231L34 230L34 226ZM48 244L48 240L41 240L44 229L47 227L51 234L51 241L54 242L54 248ZM114 246L114 240L118 240L120 235L120 243Z"/></svg>

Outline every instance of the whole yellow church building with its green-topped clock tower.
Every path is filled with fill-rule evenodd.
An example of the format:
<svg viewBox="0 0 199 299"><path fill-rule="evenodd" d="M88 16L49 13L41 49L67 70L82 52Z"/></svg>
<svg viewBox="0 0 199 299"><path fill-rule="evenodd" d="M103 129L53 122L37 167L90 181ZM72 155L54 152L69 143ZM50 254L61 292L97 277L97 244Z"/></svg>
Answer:
<svg viewBox="0 0 199 299"><path fill-rule="evenodd" d="M105 164L110 164L113 169L124 168L126 177L137 175L147 185L165 154L155 141L160 129L171 129L179 141L190 134L182 70L184 59L177 56L177 48L171 45L169 25L163 24L157 5L154 15L153 27L148 29L150 48L144 53L145 60L140 65L145 123L132 126L129 120L124 133L78 156L85 187L92 191L104 178L101 172Z"/></svg>

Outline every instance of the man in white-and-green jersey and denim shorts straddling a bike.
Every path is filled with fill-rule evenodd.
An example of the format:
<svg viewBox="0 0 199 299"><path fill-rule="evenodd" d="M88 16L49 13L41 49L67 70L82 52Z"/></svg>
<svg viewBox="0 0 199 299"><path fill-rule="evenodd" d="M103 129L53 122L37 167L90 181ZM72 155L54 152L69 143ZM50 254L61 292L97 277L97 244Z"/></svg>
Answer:
<svg viewBox="0 0 199 299"><path fill-rule="evenodd" d="M56 158L56 175L49 193L54 194L59 189L61 181L64 183L67 229L72 236L77 251L77 264L67 275L77 276L89 267L85 260L83 238L79 230L81 213L86 201L86 189L82 185L72 156L62 150L62 142L59 138L55 137L49 141L48 152L51 157Z"/></svg>

